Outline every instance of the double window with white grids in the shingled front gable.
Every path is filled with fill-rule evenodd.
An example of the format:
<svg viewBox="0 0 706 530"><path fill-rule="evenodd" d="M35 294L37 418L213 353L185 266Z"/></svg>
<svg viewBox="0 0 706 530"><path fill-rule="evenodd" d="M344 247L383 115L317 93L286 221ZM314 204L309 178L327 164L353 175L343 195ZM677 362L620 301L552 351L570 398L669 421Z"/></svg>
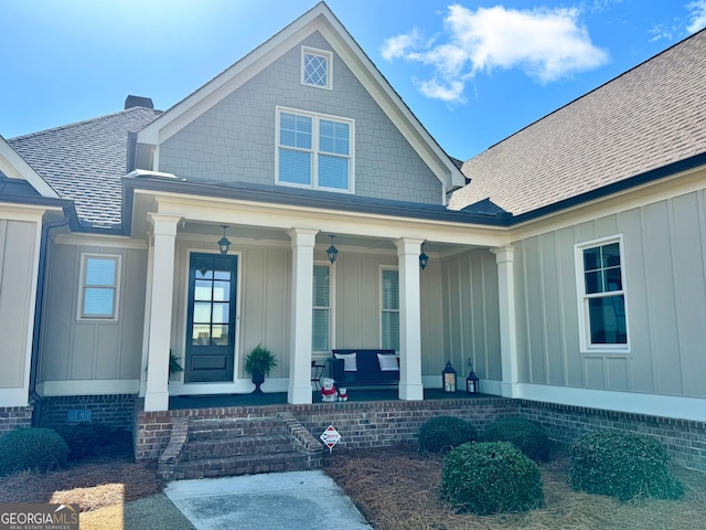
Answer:
<svg viewBox="0 0 706 530"><path fill-rule="evenodd" d="M277 181L353 191L353 120L277 109Z"/></svg>

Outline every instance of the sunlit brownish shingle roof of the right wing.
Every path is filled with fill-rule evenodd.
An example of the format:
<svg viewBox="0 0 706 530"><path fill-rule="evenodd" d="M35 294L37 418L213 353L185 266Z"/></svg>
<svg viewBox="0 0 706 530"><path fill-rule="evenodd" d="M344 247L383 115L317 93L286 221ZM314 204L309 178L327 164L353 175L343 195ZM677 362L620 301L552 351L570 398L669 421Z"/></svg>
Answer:
<svg viewBox="0 0 706 530"><path fill-rule="evenodd" d="M706 30L468 160L449 208L518 215L702 152Z"/></svg>

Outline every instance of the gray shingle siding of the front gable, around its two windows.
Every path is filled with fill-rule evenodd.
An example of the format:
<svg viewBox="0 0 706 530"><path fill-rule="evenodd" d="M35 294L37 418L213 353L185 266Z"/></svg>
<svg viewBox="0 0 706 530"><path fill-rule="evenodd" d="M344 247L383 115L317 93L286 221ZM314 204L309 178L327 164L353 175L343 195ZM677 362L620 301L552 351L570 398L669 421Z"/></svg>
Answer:
<svg viewBox="0 0 706 530"><path fill-rule="evenodd" d="M331 50L318 32L301 44ZM160 146L159 170L180 177L275 184L276 106L355 120L355 193L442 203L442 186L341 57L333 89L302 86L301 45L275 61Z"/></svg>

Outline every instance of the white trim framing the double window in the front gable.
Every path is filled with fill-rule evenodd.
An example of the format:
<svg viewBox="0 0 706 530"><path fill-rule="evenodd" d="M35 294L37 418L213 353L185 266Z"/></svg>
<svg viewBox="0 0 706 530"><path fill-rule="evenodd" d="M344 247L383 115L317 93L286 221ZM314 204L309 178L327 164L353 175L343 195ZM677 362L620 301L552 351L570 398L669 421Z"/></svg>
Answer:
<svg viewBox="0 0 706 530"><path fill-rule="evenodd" d="M275 131L275 182L279 186L289 186L292 188L303 188L307 190L320 190L320 191L331 191L331 192L335 192L335 193L355 193L355 120L351 119L351 118L344 118L342 116L332 116L329 114L318 114L318 113L310 113L307 110L300 110L297 108L290 108L290 107L280 107L279 105L276 107L277 109L277 124L276 124L276 131ZM306 152L311 152L312 153L312 160L311 160L311 184L297 184L295 182L285 182L279 180L279 150L280 150L280 145L279 145L279 132L280 132L280 116L282 113L287 113L287 114L296 114L299 116L308 116L312 119L312 138L311 138L311 150L309 149L302 149ZM319 186L317 179L319 176L319 120L320 119L328 119L331 121L339 121L339 123L343 123L343 124L347 124L350 129L349 129L349 134L350 134L350 155L349 155L349 162L350 162L350 167L349 167L349 188L347 190L341 189L341 188L325 188L325 187L321 187ZM291 147L286 147L286 149L292 149ZM325 155L331 155L331 153L325 153Z"/></svg>

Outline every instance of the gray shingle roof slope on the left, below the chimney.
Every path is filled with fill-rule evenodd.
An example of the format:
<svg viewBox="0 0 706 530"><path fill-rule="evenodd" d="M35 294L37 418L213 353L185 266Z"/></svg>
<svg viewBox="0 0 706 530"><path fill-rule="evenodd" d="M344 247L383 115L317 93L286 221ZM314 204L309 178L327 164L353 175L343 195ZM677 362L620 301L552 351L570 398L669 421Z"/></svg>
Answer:
<svg viewBox="0 0 706 530"><path fill-rule="evenodd" d="M120 224L121 181L127 173L128 132L161 113L132 107L76 124L11 138L8 144L89 225Z"/></svg>

